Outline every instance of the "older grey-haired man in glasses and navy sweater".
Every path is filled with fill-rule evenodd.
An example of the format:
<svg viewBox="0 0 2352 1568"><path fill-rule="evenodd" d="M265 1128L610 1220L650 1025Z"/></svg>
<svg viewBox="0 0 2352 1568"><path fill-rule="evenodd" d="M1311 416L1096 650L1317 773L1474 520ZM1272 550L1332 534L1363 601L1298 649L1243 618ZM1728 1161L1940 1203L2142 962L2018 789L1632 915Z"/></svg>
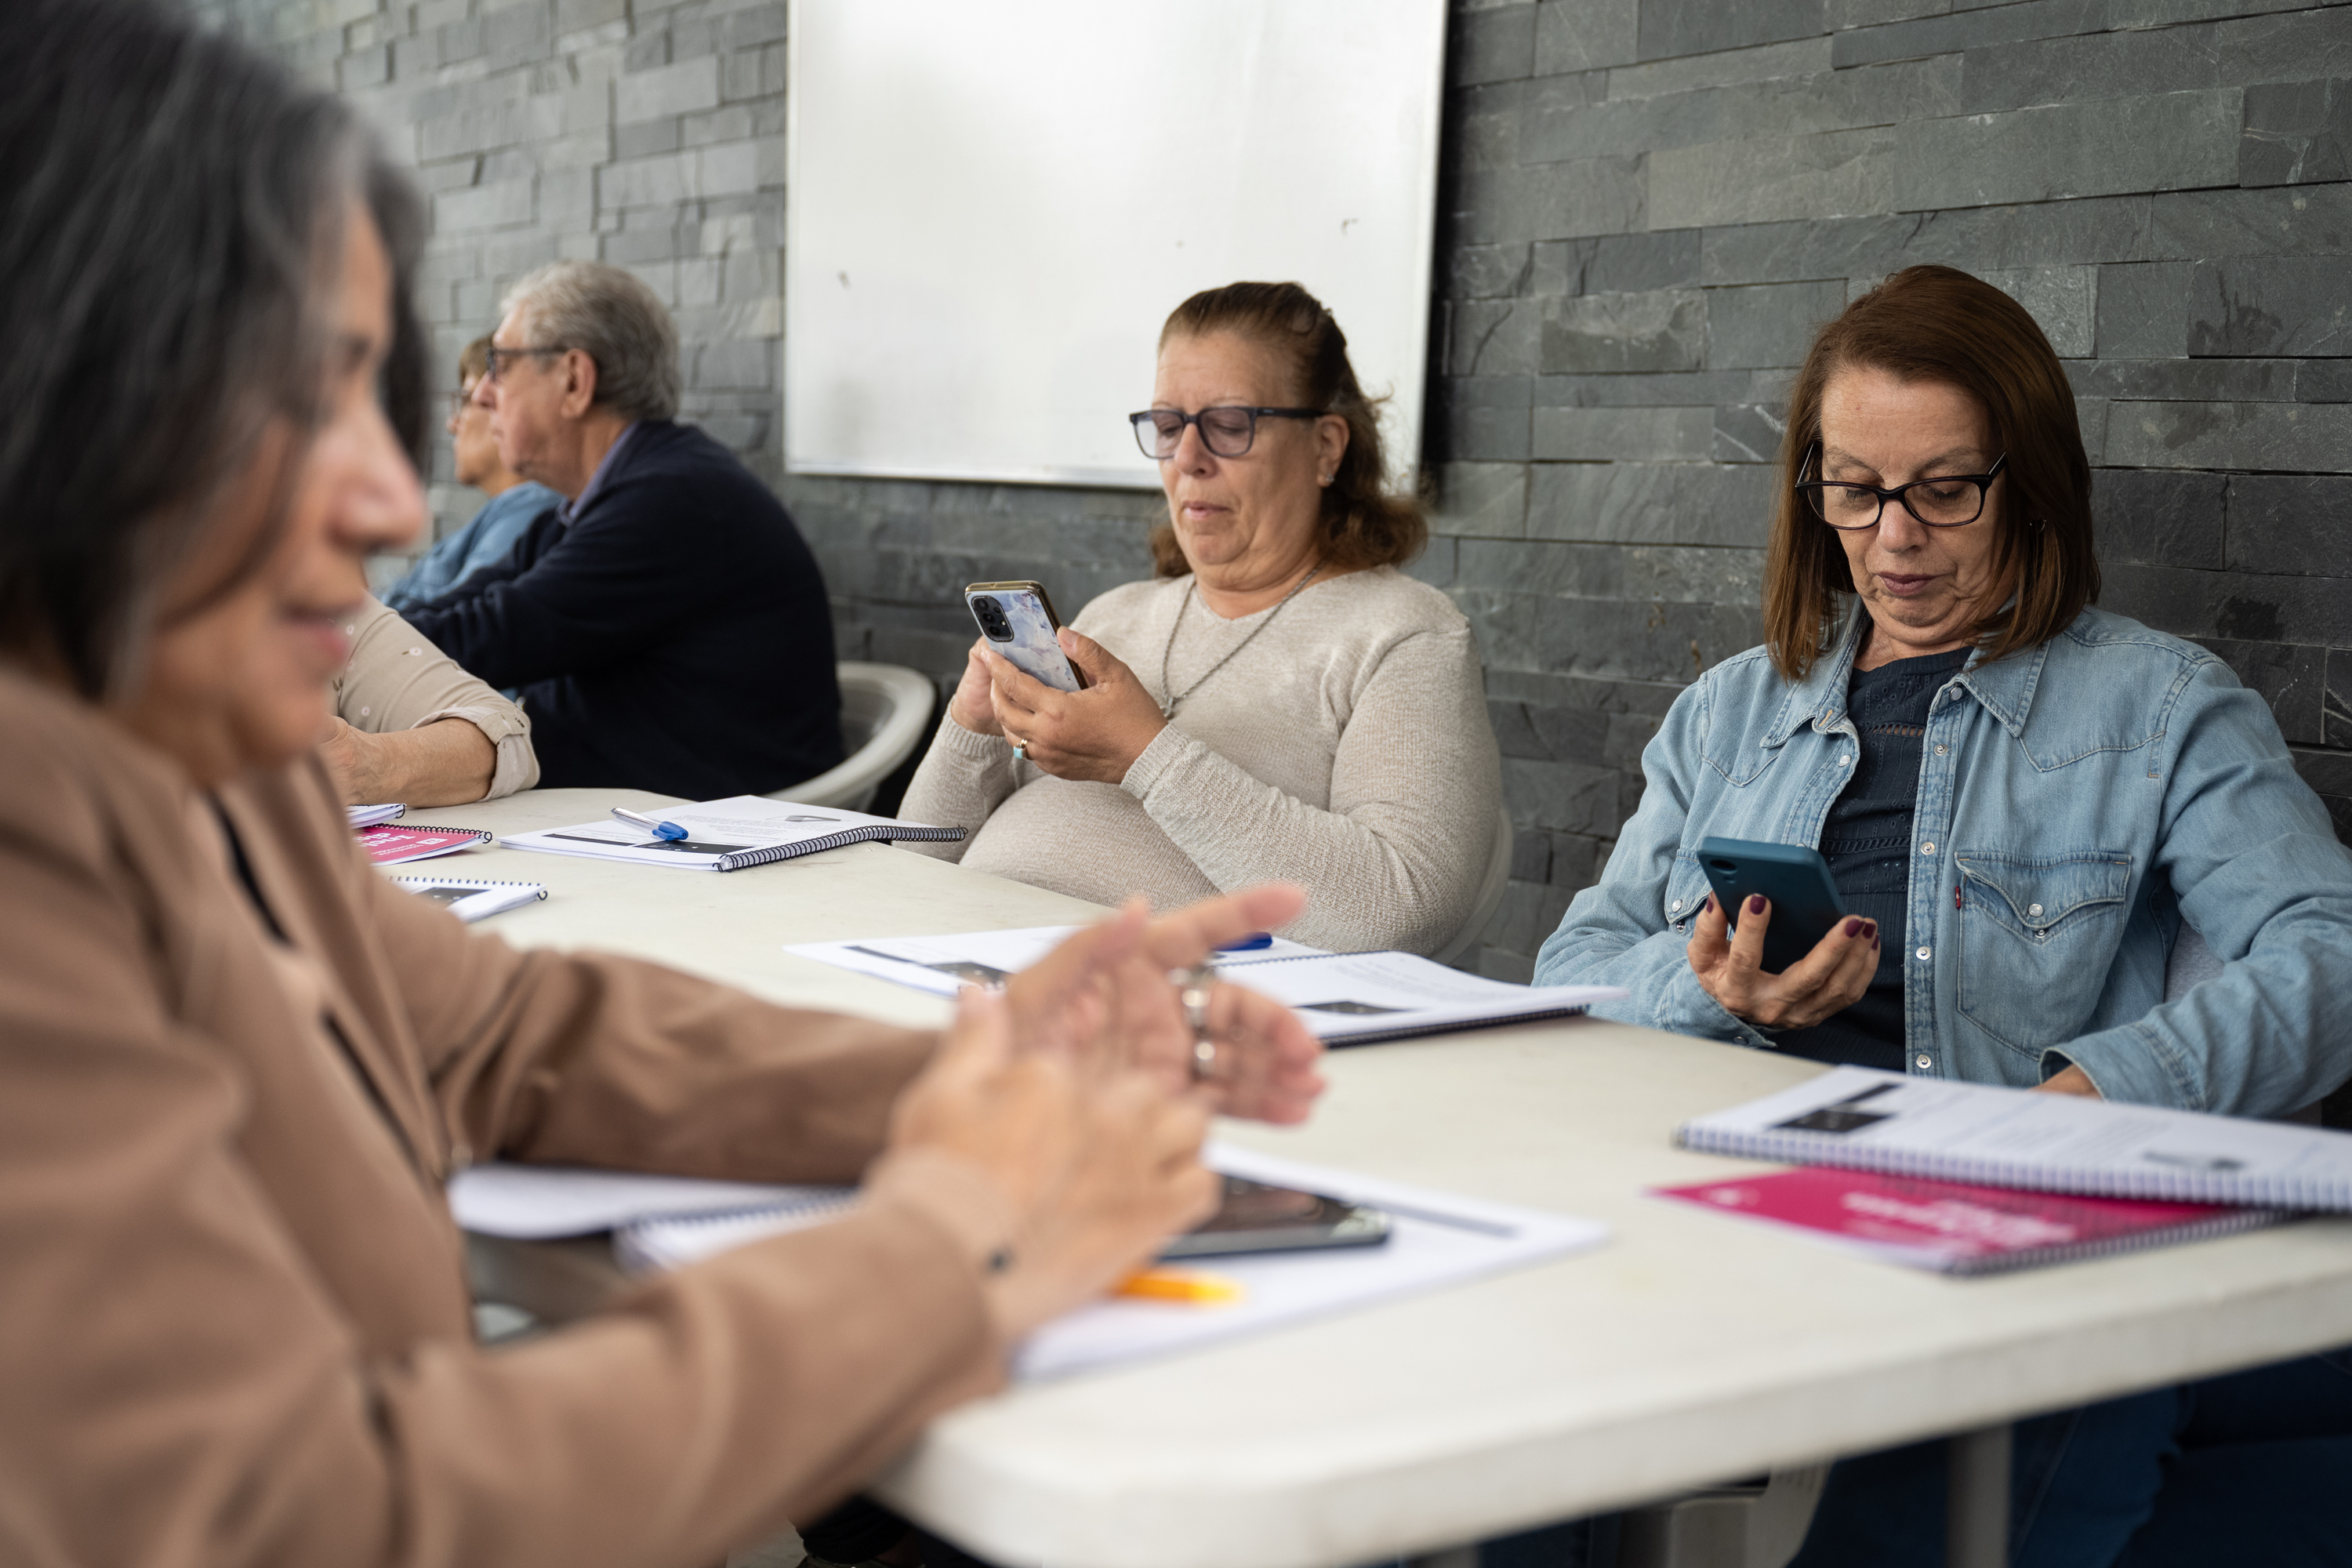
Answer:
<svg viewBox="0 0 2352 1568"><path fill-rule="evenodd" d="M520 686L546 785L762 795L842 759L816 557L731 451L677 423L677 327L633 273L522 277L475 400L501 461L564 496L503 564L407 611Z"/></svg>

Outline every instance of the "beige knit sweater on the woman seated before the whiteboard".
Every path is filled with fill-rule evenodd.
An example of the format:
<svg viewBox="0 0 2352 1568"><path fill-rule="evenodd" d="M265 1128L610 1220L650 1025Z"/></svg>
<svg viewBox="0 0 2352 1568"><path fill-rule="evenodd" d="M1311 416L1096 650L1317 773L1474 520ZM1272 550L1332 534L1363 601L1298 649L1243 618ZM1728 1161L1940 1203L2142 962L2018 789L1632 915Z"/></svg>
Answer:
<svg viewBox="0 0 2352 1568"><path fill-rule="evenodd" d="M1470 917L1494 844L1501 759L1470 625L1392 567L1308 585L1279 611L1211 614L1190 578L1112 588L1073 625L1152 696L1192 689L1127 778L1070 783L943 717L901 816L964 827L922 853L1169 910L1254 882L1305 884L1284 936L1432 952Z"/></svg>

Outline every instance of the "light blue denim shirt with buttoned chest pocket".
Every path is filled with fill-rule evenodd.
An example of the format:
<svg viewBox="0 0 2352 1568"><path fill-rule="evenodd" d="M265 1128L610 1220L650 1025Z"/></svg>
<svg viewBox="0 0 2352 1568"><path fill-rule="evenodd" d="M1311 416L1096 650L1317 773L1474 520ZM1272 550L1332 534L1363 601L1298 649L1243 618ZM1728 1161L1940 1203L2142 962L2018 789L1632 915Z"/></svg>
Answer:
<svg viewBox="0 0 2352 1568"><path fill-rule="evenodd" d="M1541 985L1625 985L1595 1011L1771 1046L1684 959L1698 842L1820 844L1858 752L1863 625L1804 682L1752 649L1675 701ZM2037 649L1971 656L1929 703L1907 886L1910 1072L2032 1086L2077 1063L2114 1100L2239 1114L2352 1074L2352 853L2263 701L2190 642L2086 609ZM2166 1004L2183 919L2225 964Z"/></svg>

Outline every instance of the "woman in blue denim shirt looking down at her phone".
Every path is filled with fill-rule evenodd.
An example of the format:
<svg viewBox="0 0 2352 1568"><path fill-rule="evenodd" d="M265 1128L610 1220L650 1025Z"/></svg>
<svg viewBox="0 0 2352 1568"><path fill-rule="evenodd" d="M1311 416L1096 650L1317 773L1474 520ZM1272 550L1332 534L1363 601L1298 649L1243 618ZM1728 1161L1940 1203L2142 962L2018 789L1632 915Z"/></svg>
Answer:
<svg viewBox="0 0 2352 1568"><path fill-rule="evenodd" d="M1684 691L1538 985L1828 1063L2277 1117L2352 1074L2352 853L2218 658L2091 609L2091 465L2006 294L1896 273L1790 390L1766 644ZM1696 846L1818 846L1783 973ZM2218 976L2166 1001L2176 938ZM2018 1427L2013 1563L2343 1561L2352 1378L2296 1361ZM1799 1568L1940 1561L1943 1446L1832 1472ZM2251 1559L2249 1559L2251 1561Z"/></svg>

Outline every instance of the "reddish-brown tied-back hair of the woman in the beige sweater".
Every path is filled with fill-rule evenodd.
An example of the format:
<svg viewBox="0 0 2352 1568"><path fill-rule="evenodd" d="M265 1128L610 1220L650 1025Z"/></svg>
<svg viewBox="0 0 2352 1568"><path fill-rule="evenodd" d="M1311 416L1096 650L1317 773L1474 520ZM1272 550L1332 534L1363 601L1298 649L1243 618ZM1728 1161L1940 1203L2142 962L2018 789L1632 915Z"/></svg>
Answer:
<svg viewBox="0 0 2352 1568"><path fill-rule="evenodd" d="M1324 303L1296 282L1228 282L1176 306L1160 329L1160 346L1211 331L1230 331L1284 355L1296 376L1294 402L1348 421L1348 451L1322 498L1324 564L1357 571L1402 567L1421 555L1421 545L1430 541L1421 503L1385 489L1381 404L1388 400L1364 397L1348 362L1348 336ZM1176 529L1162 522L1152 529L1152 574L1174 578L1188 571L1192 564L1176 545Z"/></svg>

